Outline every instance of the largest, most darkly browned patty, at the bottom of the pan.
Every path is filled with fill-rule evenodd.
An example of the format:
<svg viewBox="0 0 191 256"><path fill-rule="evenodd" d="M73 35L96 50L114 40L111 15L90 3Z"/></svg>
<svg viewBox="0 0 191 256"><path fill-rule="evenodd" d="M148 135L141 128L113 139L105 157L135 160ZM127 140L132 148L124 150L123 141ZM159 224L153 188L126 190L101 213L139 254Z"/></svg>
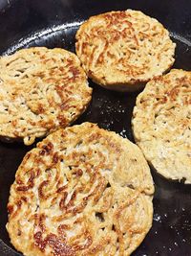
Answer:
<svg viewBox="0 0 191 256"><path fill-rule="evenodd" d="M11 244L24 255L127 256L153 219L153 179L138 146L84 123L29 151L11 185Z"/></svg>

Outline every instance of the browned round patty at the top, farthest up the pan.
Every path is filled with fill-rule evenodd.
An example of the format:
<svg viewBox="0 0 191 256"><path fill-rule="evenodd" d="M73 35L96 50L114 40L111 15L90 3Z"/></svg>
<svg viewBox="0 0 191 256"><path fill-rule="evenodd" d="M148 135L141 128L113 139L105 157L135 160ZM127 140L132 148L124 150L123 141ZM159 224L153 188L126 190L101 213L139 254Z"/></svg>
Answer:
<svg viewBox="0 0 191 256"><path fill-rule="evenodd" d="M175 43L158 20L142 12L106 12L90 17L75 36L88 76L105 88L136 91L174 63Z"/></svg>

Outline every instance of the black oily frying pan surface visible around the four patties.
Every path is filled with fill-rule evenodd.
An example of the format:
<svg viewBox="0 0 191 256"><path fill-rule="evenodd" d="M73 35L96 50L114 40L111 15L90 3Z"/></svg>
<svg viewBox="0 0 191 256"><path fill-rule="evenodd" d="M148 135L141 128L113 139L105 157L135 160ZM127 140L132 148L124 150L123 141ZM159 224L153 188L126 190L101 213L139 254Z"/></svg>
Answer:
<svg viewBox="0 0 191 256"><path fill-rule="evenodd" d="M168 2L168 3L166 3ZM157 17L177 42L174 67L191 70L191 2L109 0L0 1L0 53L29 46L64 47L74 51L79 23L92 14L132 8ZM130 120L137 94L107 91L90 81L93 100L75 123L98 123L133 140ZM32 147L31 147L32 148ZM0 143L0 255L21 255L10 249L5 228L11 183L31 148ZM153 227L134 256L191 255L191 186L167 181L152 171L156 184Z"/></svg>

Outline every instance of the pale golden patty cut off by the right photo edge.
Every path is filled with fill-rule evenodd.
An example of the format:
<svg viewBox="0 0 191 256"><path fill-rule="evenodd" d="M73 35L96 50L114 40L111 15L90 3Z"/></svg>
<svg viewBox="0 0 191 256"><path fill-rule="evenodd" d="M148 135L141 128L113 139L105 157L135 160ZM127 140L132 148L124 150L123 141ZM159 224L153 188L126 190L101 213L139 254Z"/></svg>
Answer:
<svg viewBox="0 0 191 256"><path fill-rule="evenodd" d="M133 131L160 175L191 183L191 72L174 69L138 95Z"/></svg>

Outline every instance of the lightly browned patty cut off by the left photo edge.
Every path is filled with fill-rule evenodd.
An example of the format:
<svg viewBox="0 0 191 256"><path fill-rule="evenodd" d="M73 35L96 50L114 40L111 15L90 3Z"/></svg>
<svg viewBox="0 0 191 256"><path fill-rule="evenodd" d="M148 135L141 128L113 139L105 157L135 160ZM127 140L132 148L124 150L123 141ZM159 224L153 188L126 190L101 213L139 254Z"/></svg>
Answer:
<svg viewBox="0 0 191 256"><path fill-rule="evenodd" d="M79 59L63 49L36 47L0 58L0 137L31 145L69 126L91 101Z"/></svg>

